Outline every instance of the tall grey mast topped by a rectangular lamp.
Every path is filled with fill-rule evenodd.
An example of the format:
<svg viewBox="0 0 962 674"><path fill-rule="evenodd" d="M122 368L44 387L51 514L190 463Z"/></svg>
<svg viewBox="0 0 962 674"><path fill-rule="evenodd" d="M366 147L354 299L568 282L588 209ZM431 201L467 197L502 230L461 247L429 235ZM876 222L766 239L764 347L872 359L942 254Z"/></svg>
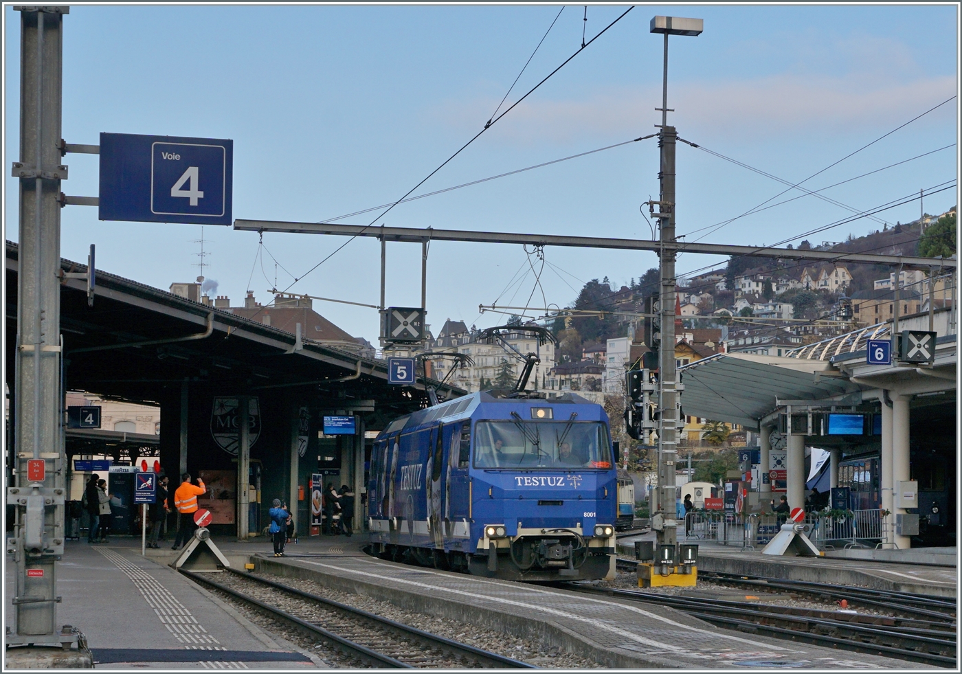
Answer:
<svg viewBox="0 0 962 674"><path fill-rule="evenodd" d="M660 258L660 292L659 316L661 321L661 339L658 361L658 407L660 424L658 429L658 483L657 509L652 513L652 528L656 531L658 545L674 547L677 544L677 526L675 519L675 461L677 460L677 428L680 420L677 418L676 374L674 369L674 150L678 137L673 126L668 125L668 113L673 112L668 107L668 37L697 36L701 34L704 22L699 18L681 18L678 16L655 16L651 19L650 32L661 33L665 36L665 56L662 82L662 107L657 108L662 113L661 133L658 135L658 145L661 148L661 164L659 172L660 196L658 198L658 219L662 250ZM669 244L666 247L666 244Z"/></svg>

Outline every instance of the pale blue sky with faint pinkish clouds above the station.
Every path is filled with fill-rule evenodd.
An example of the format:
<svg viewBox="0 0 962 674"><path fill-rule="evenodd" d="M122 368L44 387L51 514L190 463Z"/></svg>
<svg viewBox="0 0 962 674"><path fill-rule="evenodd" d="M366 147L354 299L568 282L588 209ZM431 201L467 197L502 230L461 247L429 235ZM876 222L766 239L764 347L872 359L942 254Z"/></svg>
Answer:
<svg viewBox="0 0 962 674"><path fill-rule="evenodd" d="M535 7L121 7L71 6L64 19L63 137L100 132L234 140L234 216L319 221L399 198L480 130L518 76L560 6ZM623 6L590 6L592 37ZM581 44L582 6L562 12L508 102ZM655 131L660 36L655 14L704 19L699 37L672 37L670 120L681 137L797 182L958 90L958 8L941 6L646 6L632 12L495 124L419 191L546 162ZM18 158L19 15L4 8L6 166ZM825 171L816 189L957 141L958 99ZM67 194L97 193L97 158L68 155ZM954 180L954 146L825 192L858 210ZM611 237L650 237L639 205L658 193L654 139L425 198L395 208L388 225ZM722 222L784 186L700 150L678 148L678 232ZM797 194L797 192L793 193ZM17 184L6 178L6 236L16 239ZM791 195L786 195L786 197ZM786 198L782 197L782 198ZM956 203L954 189L926 212ZM375 213L339 220L367 224ZM771 244L848 214L811 196L736 220L703 240ZM881 213L919 215L918 202ZM378 220L380 224L382 220ZM860 219L813 238L843 240L881 225ZM63 210L63 256L141 283L192 280L201 229L101 222L95 208ZM258 237L206 227L208 278L234 304L244 291L270 299L274 262L255 259ZM692 240L700 235L692 235ZM345 239L267 234L291 284ZM388 304L419 301L418 245L389 245ZM352 241L292 291L378 301L374 239ZM519 247L435 242L428 265L428 322L479 327L480 303L524 305L542 288L570 303L583 281L638 277L650 253L546 249L541 288ZM680 272L715 262L683 255ZM282 268L283 267L283 268ZM253 269L253 275L252 275ZM285 269L287 271L285 271ZM563 270L563 271L558 271ZM290 272L290 274L288 273ZM376 343L377 313L317 303L353 335Z"/></svg>

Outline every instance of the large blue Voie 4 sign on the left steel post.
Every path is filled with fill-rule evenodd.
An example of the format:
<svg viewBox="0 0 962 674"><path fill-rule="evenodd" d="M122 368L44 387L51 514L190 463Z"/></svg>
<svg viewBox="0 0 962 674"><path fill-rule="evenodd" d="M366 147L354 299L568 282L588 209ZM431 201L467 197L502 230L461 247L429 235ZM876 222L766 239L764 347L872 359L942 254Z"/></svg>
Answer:
<svg viewBox="0 0 962 674"><path fill-rule="evenodd" d="M101 220L232 222L234 141L100 135Z"/></svg>

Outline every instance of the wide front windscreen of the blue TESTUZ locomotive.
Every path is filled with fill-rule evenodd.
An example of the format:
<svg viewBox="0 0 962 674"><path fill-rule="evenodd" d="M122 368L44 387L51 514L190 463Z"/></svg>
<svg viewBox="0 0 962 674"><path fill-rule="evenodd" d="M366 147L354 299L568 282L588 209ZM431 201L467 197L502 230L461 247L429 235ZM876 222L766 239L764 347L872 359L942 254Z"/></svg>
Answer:
<svg viewBox="0 0 962 674"><path fill-rule="evenodd" d="M611 468L608 429L596 421L479 421L475 468Z"/></svg>

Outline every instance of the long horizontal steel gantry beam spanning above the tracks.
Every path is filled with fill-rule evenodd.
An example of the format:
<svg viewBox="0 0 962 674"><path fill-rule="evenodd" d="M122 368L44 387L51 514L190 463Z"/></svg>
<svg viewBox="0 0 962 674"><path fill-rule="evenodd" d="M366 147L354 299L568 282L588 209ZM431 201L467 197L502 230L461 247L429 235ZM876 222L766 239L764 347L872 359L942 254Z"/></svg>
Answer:
<svg viewBox="0 0 962 674"><path fill-rule="evenodd" d="M839 253L827 250L798 250L770 246L735 246L724 243L661 242L636 238L562 237L548 234L518 234L514 232L475 232L470 230L436 230L430 227L374 227L364 225L335 225L323 222L280 222L274 220L235 220L234 229L243 232L287 232L289 234L326 234L340 237L384 238L388 241L418 242L462 241L468 243L515 243L570 248L607 248L614 250L645 250L657 253L672 250L678 253L706 255L749 256L783 260L814 260L823 262L861 262L864 264L902 264L905 268L929 269L942 266L954 269L957 260L923 258L911 255L878 255L875 253Z"/></svg>

